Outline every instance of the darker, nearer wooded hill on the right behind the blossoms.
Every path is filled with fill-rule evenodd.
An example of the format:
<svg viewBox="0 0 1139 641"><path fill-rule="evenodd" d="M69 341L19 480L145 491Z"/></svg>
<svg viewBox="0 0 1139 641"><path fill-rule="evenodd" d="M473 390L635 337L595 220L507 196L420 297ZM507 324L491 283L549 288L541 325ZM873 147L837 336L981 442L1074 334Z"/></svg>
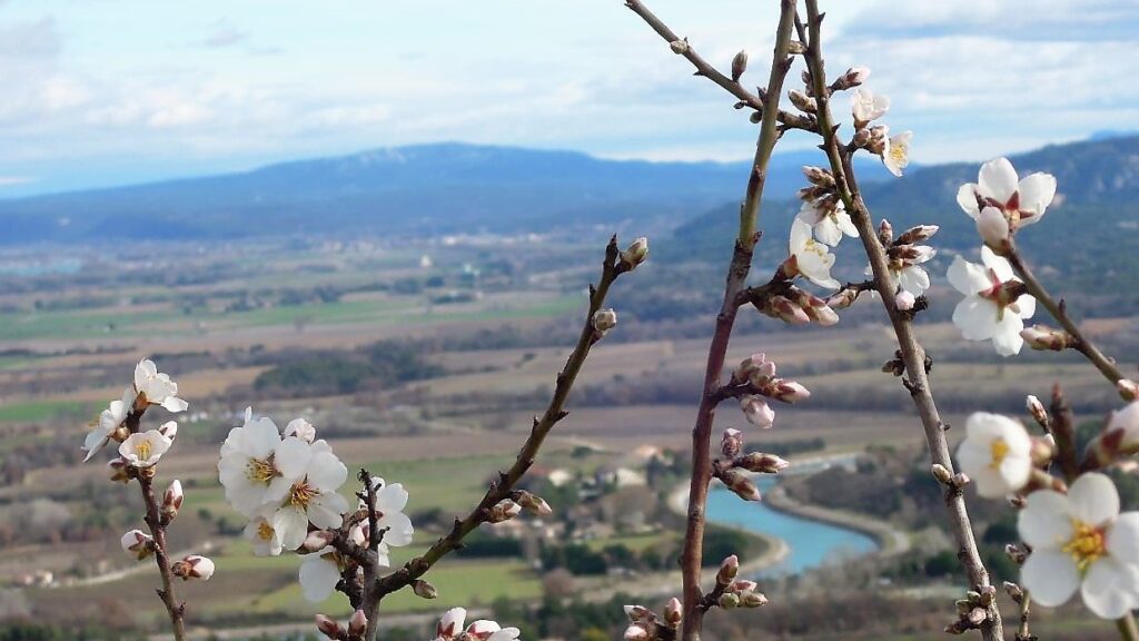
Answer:
<svg viewBox="0 0 1139 641"><path fill-rule="evenodd" d="M821 153L808 159L820 164ZM1070 291L1108 293L1139 300L1134 282L1139 275L1139 136L1050 145L1010 156L1021 176L1047 171L1056 176L1058 196L1042 222L1019 237L1033 261L1050 271ZM896 230L919 224L941 226L934 244L952 251L980 246L975 224L957 205L957 189L977 180L980 163L929 165L906 177L863 184L862 192L876 218L888 219ZM805 185L800 178L794 188ZM780 196L793 189L769 192L761 229L764 241L759 258L764 265L786 255L790 219L798 202ZM777 200L778 198L778 200ZM671 241L657 243L656 257L670 261L723 261L731 251L738 206L727 202L680 226ZM839 260L854 257L854 243L839 246ZM948 254L943 255L948 260ZM865 258L858 258L865 262ZM948 262L947 262L948 265ZM944 266L939 267L943 269ZM1124 285L1120 286L1120 277Z"/></svg>

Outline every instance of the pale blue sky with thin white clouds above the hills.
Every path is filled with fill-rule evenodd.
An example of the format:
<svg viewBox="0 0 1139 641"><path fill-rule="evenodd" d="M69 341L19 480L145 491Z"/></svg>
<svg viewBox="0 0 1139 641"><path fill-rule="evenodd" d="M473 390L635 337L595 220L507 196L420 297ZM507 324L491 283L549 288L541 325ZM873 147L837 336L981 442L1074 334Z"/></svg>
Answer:
<svg viewBox="0 0 1139 641"><path fill-rule="evenodd" d="M646 3L765 82L778 0ZM821 5L916 162L1139 127L1139 0ZM744 160L732 102L622 0L0 0L0 197L444 140Z"/></svg>

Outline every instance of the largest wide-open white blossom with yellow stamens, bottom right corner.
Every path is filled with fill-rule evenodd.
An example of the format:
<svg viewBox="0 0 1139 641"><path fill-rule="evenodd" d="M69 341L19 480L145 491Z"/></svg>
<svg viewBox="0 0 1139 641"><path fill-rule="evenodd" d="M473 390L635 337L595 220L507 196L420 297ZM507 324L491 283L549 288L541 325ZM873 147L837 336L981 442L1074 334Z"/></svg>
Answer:
<svg viewBox="0 0 1139 641"><path fill-rule="evenodd" d="M1088 609L1108 619L1139 603L1139 512L1120 513L1120 495L1106 476L1081 476L1066 496L1033 492L1017 529L1032 546L1021 583L1033 601L1059 606L1080 589Z"/></svg>

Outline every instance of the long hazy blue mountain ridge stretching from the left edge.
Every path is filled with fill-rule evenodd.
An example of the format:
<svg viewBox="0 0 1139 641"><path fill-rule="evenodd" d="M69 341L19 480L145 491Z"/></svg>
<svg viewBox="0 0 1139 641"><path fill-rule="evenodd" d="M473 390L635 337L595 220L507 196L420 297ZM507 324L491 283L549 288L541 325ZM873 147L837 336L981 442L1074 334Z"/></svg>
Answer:
<svg viewBox="0 0 1139 641"><path fill-rule="evenodd" d="M800 180L803 152L770 180ZM885 172L871 163L874 179ZM287 234L671 228L741 193L747 163L611 161L464 144L384 148L244 173L0 201L3 243Z"/></svg>

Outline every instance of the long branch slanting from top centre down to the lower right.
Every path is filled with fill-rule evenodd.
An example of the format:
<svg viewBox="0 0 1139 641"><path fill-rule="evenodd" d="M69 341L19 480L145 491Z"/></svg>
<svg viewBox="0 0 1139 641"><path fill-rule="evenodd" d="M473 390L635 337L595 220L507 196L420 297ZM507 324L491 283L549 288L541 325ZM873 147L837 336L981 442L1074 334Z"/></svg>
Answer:
<svg viewBox="0 0 1139 641"><path fill-rule="evenodd" d="M909 389L910 396L913 398L913 403L917 405L918 413L921 416L926 444L933 463L943 465L952 472L953 463L950 459L949 444L945 439L947 427L941 421L937 405L929 388L929 380L925 368L925 350L913 333L912 320L894 305L898 285L890 273L885 248L883 248L875 233L870 211L859 193L851 164L850 151L839 144L836 136L837 128L831 120L820 38L822 15L819 13L818 0L806 0L806 10L808 26L804 27L802 23L796 26L800 30L800 40L804 40L806 44L805 57L813 83L814 98L818 100L819 129L823 139L822 148L830 163L838 195L842 197L846 211L851 213L851 218L858 227L867 258L870 260L870 267L877 283L882 303L886 309L886 315L890 317L894 334L898 338L902 360L906 364L906 387ZM809 34L805 32L805 29L810 30ZM978 591L982 587L988 587L990 585L989 573L977 551L977 544L969 522L969 514L961 493L947 492L945 506L949 512L953 537L958 545L958 558L968 573L969 582ZM1000 610L997 608L995 601L991 602L988 607L988 617L981 624L981 634L985 641L1003 641L1005 635Z"/></svg>

